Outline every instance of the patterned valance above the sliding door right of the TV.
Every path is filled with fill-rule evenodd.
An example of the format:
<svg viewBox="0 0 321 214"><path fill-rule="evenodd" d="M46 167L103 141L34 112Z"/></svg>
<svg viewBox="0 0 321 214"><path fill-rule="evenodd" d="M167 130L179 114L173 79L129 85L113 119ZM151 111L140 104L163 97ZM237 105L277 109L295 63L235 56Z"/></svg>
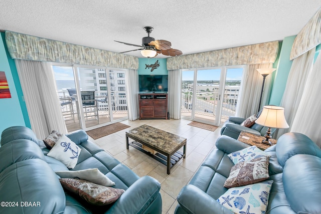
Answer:
<svg viewBox="0 0 321 214"><path fill-rule="evenodd" d="M236 48L188 54L167 59L167 69L208 68L217 66L274 63L279 42L267 42Z"/></svg>

